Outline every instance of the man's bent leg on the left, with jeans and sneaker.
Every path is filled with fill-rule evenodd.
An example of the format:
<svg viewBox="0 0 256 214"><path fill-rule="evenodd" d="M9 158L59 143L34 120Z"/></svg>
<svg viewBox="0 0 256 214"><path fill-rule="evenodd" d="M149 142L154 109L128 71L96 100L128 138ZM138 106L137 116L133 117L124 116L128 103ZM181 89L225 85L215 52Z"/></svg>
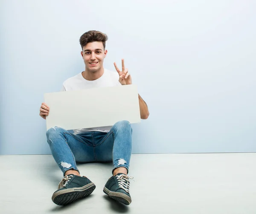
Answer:
<svg viewBox="0 0 256 214"><path fill-rule="evenodd" d="M66 205L90 195L96 186L87 177L80 176L75 160L75 157L83 162L94 160L89 140L60 127L52 127L47 131L47 142L53 158L64 174L58 190L52 195L52 201L58 205Z"/></svg>

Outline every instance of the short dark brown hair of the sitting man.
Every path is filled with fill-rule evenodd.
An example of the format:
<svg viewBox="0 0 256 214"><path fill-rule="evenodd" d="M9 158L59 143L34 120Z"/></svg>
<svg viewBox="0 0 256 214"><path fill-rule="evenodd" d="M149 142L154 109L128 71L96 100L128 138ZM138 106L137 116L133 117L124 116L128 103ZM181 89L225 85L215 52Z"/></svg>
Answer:
<svg viewBox="0 0 256 214"><path fill-rule="evenodd" d="M81 35L79 42L80 42L82 49L84 46L87 45L87 43L102 42L104 50L105 50L107 40L108 40L108 36L105 33L102 33L100 31L96 31L96 30L90 30L88 32L85 32L83 35Z"/></svg>

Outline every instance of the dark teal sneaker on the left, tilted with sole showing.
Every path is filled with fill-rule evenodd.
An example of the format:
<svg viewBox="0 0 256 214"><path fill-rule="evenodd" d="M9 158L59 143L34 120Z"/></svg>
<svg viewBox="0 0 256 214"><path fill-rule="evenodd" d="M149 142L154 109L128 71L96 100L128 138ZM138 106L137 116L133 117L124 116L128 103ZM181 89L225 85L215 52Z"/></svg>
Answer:
<svg viewBox="0 0 256 214"><path fill-rule="evenodd" d="M57 205L67 205L87 197L95 188L95 184L85 176L66 175L59 183L58 190L52 194L52 201Z"/></svg>

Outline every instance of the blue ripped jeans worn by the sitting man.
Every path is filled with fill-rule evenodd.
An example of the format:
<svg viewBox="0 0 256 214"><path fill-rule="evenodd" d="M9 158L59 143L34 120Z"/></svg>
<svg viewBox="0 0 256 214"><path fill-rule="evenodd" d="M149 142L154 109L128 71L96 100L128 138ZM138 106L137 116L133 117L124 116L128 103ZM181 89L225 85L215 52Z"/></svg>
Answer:
<svg viewBox="0 0 256 214"><path fill-rule="evenodd" d="M79 171L76 162L113 161L113 171L125 167L128 172L132 142L128 121L117 122L108 133L88 131L74 135L61 127L52 127L46 135L52 156L64 175L70 169Z"/></svg>

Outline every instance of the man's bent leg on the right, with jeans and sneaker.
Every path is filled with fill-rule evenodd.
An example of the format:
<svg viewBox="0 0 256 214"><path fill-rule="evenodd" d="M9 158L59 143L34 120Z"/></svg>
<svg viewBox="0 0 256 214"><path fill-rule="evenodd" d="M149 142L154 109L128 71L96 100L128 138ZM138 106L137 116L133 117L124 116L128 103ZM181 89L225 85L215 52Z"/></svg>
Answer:
<svg viewBox="0 0 256 214"><path fill-rule="evenodd" d="M99 134L100 135L100 134ZM97 138L97 137L96 137ZM132 147L132 128L128 121L119 121L113 125L110 132L101 139L96 139L96 158L107 161L113 158L113 176L104 187L105 194L126 205L131 203L129 194L129 163Z"/></svg>

